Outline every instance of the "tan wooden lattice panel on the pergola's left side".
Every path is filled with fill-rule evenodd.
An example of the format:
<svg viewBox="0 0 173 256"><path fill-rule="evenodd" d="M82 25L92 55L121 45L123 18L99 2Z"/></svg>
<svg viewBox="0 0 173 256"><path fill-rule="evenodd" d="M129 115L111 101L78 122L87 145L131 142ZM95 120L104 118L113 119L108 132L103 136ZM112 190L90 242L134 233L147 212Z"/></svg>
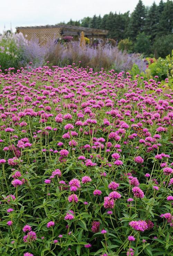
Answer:
<svg viewBox="0 0 173 256"><path fill-rule="evenodd" d="M38 39L39 44L46 44L50 39L57 39L61 37L61 28L49 27L49 28L20 28L18 32L21 32L24 36L27 35L27 39Z"/></svg>

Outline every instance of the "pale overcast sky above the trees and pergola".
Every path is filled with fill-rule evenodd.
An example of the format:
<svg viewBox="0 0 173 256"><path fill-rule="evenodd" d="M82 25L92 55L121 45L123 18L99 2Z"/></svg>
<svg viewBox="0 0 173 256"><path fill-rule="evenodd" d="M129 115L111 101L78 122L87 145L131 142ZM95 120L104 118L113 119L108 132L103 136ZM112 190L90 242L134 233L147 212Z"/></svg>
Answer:
<svg viewBox="0 0 173 256"><path fill-rule="evenodd" d="M154 0L143 0L151 6ZM160 0L155 0L158 4ZM165 0L164 0L165 2ZM17 26L54 25L59 22L79 20L94 14L101 17L110 13L134 10L138 0L0 0L0 32L4 25L13 32Z"/></svg>

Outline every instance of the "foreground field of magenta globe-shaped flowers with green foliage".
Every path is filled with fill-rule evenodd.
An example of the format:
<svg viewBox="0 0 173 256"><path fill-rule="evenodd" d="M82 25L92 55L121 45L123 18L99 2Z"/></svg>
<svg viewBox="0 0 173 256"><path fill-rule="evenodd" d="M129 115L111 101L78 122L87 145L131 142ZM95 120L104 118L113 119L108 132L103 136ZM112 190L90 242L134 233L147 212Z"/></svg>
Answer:
<svg viewBox="0 0 173 256"><path fill-rule="evenodd" d="M167 83L75 65L0 72L0 255L173 255Z"/></svg>

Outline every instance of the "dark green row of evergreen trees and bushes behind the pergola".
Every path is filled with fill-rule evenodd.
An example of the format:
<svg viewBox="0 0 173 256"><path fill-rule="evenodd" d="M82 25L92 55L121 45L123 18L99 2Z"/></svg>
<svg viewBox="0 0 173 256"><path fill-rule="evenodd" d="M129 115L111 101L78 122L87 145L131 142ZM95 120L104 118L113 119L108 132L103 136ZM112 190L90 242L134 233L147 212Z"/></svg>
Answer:
<svg viewBox="0 0 173 256"><path fill-rule="evenodd" d="M62 23L61 23L62 24ZM65 23L64 23L65 24ZM155 57L165 57L173 49L173 1L160 1L158 5L144 6L139 0L133 13L94 15L81 20L70 19L67 25L108 30L108 38L114 39L122 48Z"/></svg>

